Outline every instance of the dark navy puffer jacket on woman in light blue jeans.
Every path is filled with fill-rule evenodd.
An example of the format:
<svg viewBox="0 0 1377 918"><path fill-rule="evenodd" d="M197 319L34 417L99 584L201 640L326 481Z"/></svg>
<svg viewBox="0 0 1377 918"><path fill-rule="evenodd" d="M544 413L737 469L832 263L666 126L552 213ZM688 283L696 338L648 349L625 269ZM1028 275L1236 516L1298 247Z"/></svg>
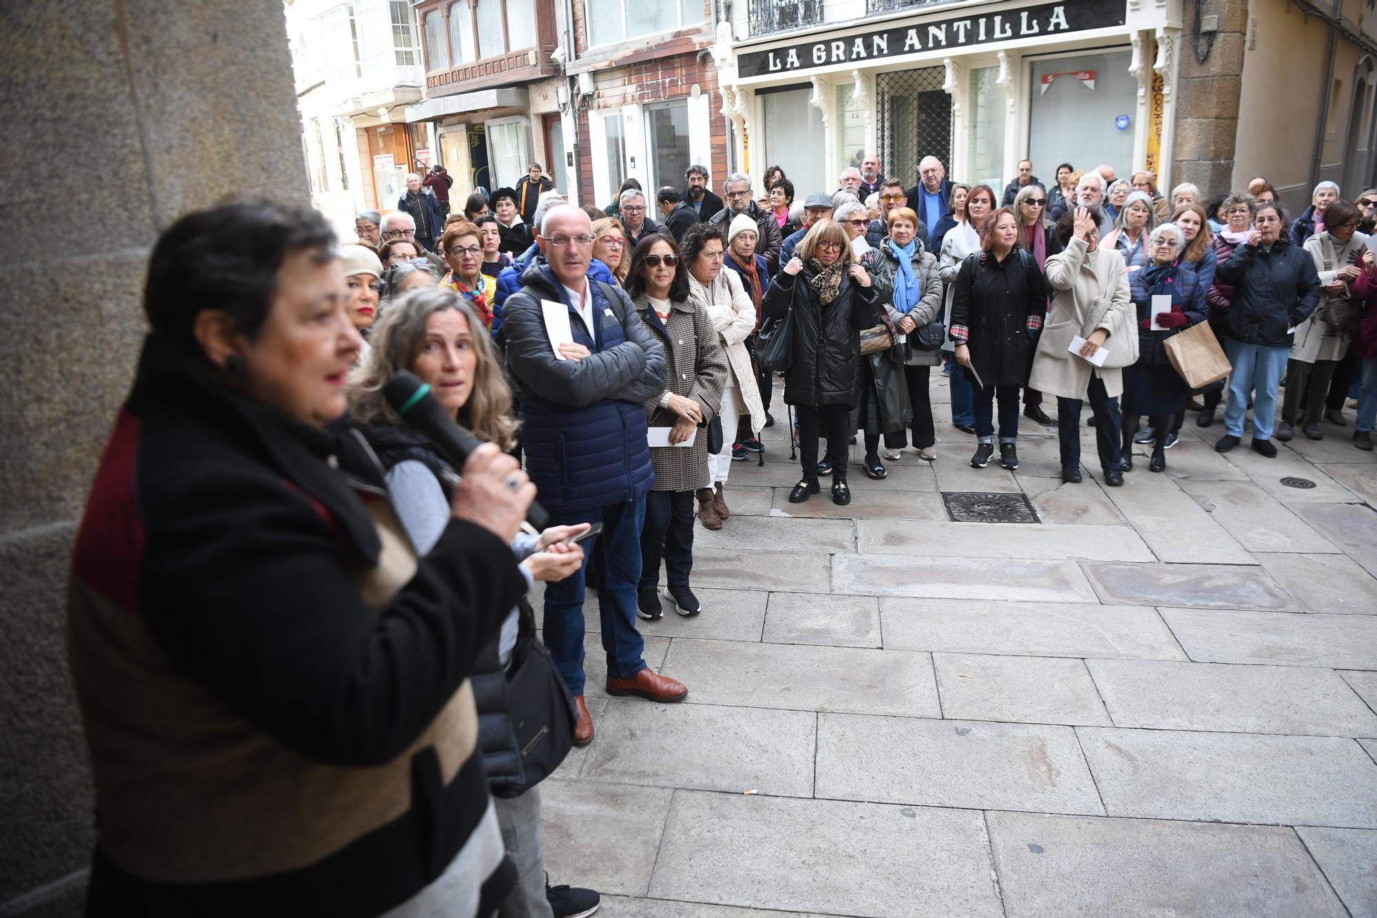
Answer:
<svg viewBox="0 0 1377 918"><path fill-rule="evenodd" d="M1224 335L1248 345L1290 347L1292 328L1305 321L1319 302L1315 259L1286 237L1272 244L1239 245L1215 274L1232 284L1234 302L1224 312Z"/></svg>

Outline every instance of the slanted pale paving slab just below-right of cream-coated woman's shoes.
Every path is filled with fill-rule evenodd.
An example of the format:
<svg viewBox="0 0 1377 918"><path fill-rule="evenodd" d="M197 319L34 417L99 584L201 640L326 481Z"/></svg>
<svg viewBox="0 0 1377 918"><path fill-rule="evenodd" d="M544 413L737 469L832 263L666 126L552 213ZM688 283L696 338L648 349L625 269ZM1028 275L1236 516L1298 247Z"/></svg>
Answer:
<svg viewBox="0 0 1377 918"><path fill-rule="evenodd" d="M1107 493L1162 561L1253 564L1243 546L1166 476L1143 467L1125 476L1122 488Z"/></svg>

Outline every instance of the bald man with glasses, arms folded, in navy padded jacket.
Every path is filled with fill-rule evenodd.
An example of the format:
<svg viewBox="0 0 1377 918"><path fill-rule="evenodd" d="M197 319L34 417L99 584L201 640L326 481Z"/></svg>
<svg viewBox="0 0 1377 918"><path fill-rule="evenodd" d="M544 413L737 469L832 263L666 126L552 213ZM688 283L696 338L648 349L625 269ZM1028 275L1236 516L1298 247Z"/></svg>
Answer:
<svg viewBox="0 0 1377 918"><path fill-rule="evenodd" d="M505 302L507 367L521 386L526 471L551 525L602 524L598 587L607 693L677 702L680 682L642 657L636 630L640 529L654 484L646 441L646 400L665 393L665 350L621 289L588 277L592 226L571 205L552 207L536 236L544 258L521 276ZM552 346L543 303L567 310L571 342ZM593 542L584 544L584 564ZM545 587L545 646L578 706L574 742L589 743L584 704L584 576Z"/></svg>

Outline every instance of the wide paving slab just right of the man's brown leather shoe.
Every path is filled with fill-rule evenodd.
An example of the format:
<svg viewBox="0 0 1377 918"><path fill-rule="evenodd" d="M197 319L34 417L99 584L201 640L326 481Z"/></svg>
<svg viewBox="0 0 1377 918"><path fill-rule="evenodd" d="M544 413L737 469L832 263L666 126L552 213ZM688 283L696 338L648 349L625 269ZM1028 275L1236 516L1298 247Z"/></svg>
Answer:
<svg viewBox="0 0 1377 918"><path fill-rule="evenodd" d="M942 715L932 660L910 651L680 638L664 673L698 704Z"/></svg>

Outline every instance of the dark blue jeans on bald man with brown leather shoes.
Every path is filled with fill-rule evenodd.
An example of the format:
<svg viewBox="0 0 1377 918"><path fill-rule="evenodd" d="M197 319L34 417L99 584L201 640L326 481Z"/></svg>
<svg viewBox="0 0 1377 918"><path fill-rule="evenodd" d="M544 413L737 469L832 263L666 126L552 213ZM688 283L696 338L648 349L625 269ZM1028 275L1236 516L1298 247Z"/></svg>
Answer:
<svg viewBox="0 0 1377 918"><path fill-rule="evenodd" d="M558 517L558 518L556 518ZM603 531L584 542L584 569L596 544L603 582L598 587L607 675L632 677L646 669L644 641L636 630L636 584L640 582L640 529L646 499L551 514L549 525L602 522ZM545 646L569 691L584 693L584 571L545 584Z"/></svg>

